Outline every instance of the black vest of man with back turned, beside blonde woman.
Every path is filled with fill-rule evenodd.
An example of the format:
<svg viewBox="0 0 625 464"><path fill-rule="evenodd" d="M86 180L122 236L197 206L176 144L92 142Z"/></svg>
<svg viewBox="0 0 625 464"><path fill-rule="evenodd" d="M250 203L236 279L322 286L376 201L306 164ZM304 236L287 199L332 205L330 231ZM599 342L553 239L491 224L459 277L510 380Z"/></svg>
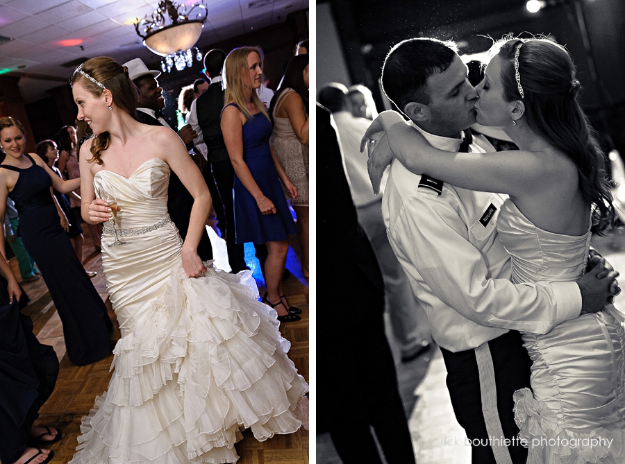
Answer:
<svg viewBox="0 0 625 464"><path fill-rule="evenodd" d="M217 82L208 86L206 92L197 97L197 123L208 148L208 162L228 160L228 151L222 135L221 119L224 109L224 89Z"/></svg>

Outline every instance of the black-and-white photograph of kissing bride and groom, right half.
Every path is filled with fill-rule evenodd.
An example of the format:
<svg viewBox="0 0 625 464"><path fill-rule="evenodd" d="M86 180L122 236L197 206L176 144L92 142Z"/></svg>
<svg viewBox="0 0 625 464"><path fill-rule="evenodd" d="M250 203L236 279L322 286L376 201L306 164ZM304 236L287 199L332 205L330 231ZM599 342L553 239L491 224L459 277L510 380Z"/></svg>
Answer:
<svg viewBox="0 0 625 464"><path fill-rule="evenodd" d="M624 462L625 5L316 12L317 463Z"/></svg>

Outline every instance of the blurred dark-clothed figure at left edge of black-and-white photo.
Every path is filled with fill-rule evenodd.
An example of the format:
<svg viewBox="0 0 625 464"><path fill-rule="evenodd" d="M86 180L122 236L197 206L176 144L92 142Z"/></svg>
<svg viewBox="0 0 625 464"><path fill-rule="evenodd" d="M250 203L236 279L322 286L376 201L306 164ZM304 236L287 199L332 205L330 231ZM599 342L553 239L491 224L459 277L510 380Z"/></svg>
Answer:
<svg viewBox="0 0 625 464"><path fill-rule="evenodd" d="M327 110L317 106L319 204L332 205L321 216L319 259L336 273L319 273L319 289L331 298L317 319L317 420L328 430L344 464L414 464L408 421L395 365L384 334L384 291L376 255L358 224L343 169L337 134ZM381 213L380 213L381 214ZM355 308L349 318L340 315ZM341 356L340 353L349 353ZM373 377L367 377L371 372ZM378 452L379 443L382 456ZM320 461L324 462L324 461Z"/></svg>

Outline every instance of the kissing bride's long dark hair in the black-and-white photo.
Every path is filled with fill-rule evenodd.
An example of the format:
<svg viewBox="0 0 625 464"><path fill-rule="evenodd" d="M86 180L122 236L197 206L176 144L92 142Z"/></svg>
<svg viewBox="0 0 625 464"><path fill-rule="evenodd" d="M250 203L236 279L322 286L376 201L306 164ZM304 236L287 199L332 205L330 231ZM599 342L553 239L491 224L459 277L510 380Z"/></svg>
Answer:
<svg viewBox="0 0 625 464"><path fill-rule="evenodd" d="M610 230L616 217L605 157L578 102L580 83L572 56L546 38L506 37L491 50L493 54L499 50L503 98L522 101L528 126L571 158L577 166L583 196L593 206L594 232Z"/></svg>

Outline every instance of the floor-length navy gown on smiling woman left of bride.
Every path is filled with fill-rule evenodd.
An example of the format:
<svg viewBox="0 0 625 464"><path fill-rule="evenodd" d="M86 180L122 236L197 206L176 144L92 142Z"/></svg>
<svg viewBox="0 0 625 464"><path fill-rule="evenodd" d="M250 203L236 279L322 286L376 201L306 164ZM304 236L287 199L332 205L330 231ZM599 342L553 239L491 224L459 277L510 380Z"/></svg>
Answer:
<svg viewBox="0 0 625 464"><path fill-rule="evenodd" d="M113 325L102 298L60 226L50 195L50 176L34 161L26 169L5 164L0 167L19 173L9 197L17 207L24 247L37 263L63 323L69 360L85 366L103 359L110 353L109 332Z"/></svg>

